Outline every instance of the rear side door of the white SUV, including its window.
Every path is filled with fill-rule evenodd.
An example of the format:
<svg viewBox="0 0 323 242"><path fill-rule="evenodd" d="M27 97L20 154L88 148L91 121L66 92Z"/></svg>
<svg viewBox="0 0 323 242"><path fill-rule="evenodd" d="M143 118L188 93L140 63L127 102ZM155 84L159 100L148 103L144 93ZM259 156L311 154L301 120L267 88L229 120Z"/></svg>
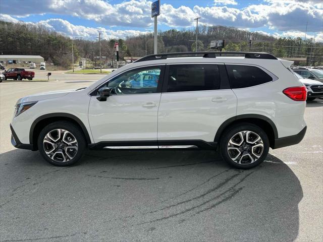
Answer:
<svg viewBox="0 0 323 242"><path fill-rule="evenodd" d="M158 144L213 142L236 108L223 64L170 64L158 110Z"/></svg>

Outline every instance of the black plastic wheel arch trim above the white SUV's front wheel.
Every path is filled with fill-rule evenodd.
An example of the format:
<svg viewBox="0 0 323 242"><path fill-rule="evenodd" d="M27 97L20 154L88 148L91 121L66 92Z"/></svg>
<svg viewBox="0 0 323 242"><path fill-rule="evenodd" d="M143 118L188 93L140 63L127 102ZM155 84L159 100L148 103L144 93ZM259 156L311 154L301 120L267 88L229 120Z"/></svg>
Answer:
<svg viewBox="0 0 323 242"><path fill-rule="evenodd" d="M91 138L81 119L79 119L77 116L70 113L57 112L57 113L48 113L48 114L41 115L37 117L32 123L29 131L29 143L33 145L33 150L38 149L37 138L40 131L46 125L56 121L61 121L61 120L69 121L75 124L76 126L78 126L82 130L87 144L91 144Z"/></svg>

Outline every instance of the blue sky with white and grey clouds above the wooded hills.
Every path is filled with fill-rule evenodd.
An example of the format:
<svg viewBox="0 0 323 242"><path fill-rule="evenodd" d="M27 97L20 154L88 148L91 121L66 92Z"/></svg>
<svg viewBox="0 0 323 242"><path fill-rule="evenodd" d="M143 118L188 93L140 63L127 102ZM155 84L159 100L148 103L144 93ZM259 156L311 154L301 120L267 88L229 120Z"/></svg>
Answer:
<svg viewBox="0 0 323 242"><path fill-rule="evenodd" d="M160 0L158 30L201 24L233 26L275 37L323 41L322 0ZM14 13L12 6L19 6ZM74 38L125 38L151 32L147 0L1 0L0 20L42 25Z"/></svg>

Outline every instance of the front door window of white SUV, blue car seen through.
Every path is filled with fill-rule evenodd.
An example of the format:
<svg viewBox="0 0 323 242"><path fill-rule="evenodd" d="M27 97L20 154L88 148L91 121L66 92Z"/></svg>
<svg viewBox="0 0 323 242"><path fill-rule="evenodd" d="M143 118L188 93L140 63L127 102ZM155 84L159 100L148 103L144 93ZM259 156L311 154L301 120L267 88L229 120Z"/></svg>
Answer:
<svg viewBox="0 0 323 242"><path fill-rule="evenodd" d="M145 94L157 92L160 67L148 67L132 70L109 81L111 94Z"/></svg>

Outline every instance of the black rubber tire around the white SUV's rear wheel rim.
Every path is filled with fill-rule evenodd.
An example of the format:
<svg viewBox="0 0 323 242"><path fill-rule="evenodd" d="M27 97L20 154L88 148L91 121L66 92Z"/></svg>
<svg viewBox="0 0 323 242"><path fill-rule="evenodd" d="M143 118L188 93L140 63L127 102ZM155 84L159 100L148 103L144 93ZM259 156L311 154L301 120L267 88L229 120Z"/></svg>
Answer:
<svg viewBox="0 0 323 242"><path fill-rule="evenodd" d="M258 135L260 138L261 138L261 141L262 142L256 142L254 145L257 145L258 143L262 143L263 145L263 148L262 148L262 152L258 153L259 157L256 158L256 156L254 156L253 154L250 154L251 157L254 158L254 162L251 163L251 161L249 163L244 163L244 164L241 164L242 161L240 164L239 162L235 162L231 156L229 155L229 146L230 146L230 149L232 148L231 146L233 146L232 144L229 145L229 142L232 138L234 138L234 136L236 134L238 134L239 132L243 132L244 131L251 131L252 133L256 135ZM250 134L252 134L250 133ZM245 133L246 134L246 133ZM250 135L248 136L250 138ZM239 137L238 137L239 138ZM245 138L245 136L244 136ZM249 140L250 141L250 140ZM239 141L237 141L238 143ZM246 143L246 145L248 146L254 146L254 145L251 145L249 143ZM252 149L252 148L248 148L247 146L245 145L241 145L241 148L239 148L239 151L236 151L237 154L239 154L238 152L247 152L248 153L248 150ZM261 144L260 144L261 146ZM233 147L237 147L237 146L233 146ZM243 151L243 148L247 147L246 148L246 151ZM268 137L266 135L266 133L261 129L259 128L258 126L256 125L253 125L253 124L250 124L250 123L240 123L240 124L237 124L237 125L234 125L232 127L229 127L228 129L226 129L221 137L221 142L220 142L220 152L221 152L221 156L222 158L228 162L231 166L233 167L236 167L236 168L239 168L239 169L249 169L249 168L252 168L252 167L255 167L257 165L259 165L267 156L268 154L268 151L269 151L269 147L270 147L270 143L269 143L269 140L268 140ZM230 150L231 152L231 150ZM244 156L244 158L248 158L248 155L247 153L241 153L242 155L241 156ZM232 153L231 153L232 155ZM235 155L233 155L235 156ZM241 156L238 156L238 159L239 157L242 158ZM244 159L243 158L243 159Z"/></svg>

